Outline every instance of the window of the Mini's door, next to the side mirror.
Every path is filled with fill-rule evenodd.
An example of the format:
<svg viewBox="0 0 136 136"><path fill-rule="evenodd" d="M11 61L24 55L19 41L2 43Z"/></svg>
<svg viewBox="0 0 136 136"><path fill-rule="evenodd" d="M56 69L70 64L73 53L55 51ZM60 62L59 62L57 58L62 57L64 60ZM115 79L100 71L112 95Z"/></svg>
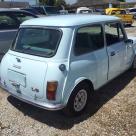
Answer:
<svg viewBox="0 0 136 136"><path fill-rule="evenodd" d="M105 35L107 46L124 41L125 35L120 23L108 23L105 25Z"/></svg>

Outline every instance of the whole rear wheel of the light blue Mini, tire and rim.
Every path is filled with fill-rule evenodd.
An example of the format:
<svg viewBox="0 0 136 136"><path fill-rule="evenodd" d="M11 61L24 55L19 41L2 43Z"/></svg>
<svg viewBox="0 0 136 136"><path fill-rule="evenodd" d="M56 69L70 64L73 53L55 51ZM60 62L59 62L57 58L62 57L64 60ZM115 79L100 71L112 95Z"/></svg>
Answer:
<svg viewBox="0 0 136 136"><path fill-rule="evenodd" d="M81 114L89 103L90 89L87 84L79 84L71 94L66 108L63 110L65 114L74 116Z"/></svg>

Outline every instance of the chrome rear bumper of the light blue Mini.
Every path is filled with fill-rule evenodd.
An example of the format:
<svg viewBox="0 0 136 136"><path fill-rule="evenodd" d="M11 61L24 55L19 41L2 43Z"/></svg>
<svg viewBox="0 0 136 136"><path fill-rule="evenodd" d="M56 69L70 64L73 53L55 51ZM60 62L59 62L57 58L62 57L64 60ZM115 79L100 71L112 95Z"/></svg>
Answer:
<svg viewBox="0 0 136 136"><path fill-rule="evenodd" d="M56 111L56 110L61 110L65 107L65 105L63 105L63 104L59 104L59 103L52 104L52 103L47 103L47 102L44 102L44 101L39 101L39 100L35 100L35 99L32 99L32 98L28 98L23 94L19 94L19 95L13 94L12 92L8 91L8 89L6 89L2 84L0 84L0 87L2 87L5 91L7 91L13 97L15 97L15 98L17 98L17 99L19 99L23 102L26 102L28 104L42 108L42 109L46 109L46 110L50 110L50 111Z"/></svg>

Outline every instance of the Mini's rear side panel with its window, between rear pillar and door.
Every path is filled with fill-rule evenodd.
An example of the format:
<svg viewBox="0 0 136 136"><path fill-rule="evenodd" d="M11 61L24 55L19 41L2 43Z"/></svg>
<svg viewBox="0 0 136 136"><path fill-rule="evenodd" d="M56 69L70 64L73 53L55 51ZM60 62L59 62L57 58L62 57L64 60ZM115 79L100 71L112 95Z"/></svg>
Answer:
<svg viewBox="0 0 136 136"><path fill-rule="evenodd" d="M92 81L97 89L107 82L108 56L104 46L102 25L81 27L76 33L74 56L71 57L71 79L85 77Z"/></svg>

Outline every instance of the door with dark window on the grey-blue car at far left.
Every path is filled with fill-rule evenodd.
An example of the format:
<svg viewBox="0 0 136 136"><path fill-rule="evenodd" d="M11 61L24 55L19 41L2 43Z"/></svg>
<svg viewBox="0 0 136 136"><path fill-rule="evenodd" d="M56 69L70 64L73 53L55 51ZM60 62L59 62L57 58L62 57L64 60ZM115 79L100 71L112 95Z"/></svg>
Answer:
<svg viewBox="0 0 136 136"><path fill-rule="evenodd" d="M19 25L10 13L0 13L0 61L8 51Z"/></svg>

